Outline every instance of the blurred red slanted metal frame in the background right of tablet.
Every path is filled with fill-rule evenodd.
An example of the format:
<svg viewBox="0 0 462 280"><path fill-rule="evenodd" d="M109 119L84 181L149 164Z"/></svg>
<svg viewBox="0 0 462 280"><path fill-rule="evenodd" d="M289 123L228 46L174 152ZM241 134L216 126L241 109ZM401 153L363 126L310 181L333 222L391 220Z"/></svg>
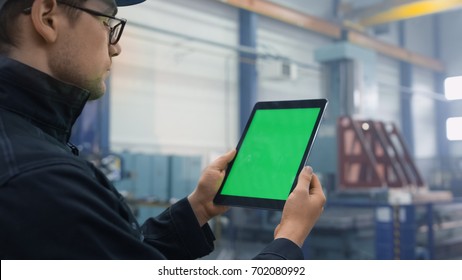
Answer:
<svg viewBox="0 0 462 280"><path fill-rule="evenodd" d="M395 125L340 117L337 128L341 188L424 186Z"/></svg>

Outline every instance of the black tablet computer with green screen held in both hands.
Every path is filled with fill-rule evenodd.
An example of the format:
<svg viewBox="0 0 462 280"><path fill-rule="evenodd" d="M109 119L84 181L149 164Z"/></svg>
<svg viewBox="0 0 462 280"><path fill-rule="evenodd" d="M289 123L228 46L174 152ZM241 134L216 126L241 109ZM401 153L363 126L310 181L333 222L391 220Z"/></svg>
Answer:
<svg viewBox="0 0 462 280"><path fill-rule="evenodd" d="M327 99L255 104L215 204L282 209L297 184Z"/></svg>

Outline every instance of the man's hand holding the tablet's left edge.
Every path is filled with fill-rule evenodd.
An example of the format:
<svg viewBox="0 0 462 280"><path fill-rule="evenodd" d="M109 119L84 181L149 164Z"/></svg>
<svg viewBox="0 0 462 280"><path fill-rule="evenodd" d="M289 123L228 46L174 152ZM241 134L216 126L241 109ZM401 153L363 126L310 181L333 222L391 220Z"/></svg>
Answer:
<svg viewBox="0 0 462 280"><path fill-rule="evenodd" d="M196 189L188 196L189 203L202 227L211 218L223 214L229 207L215 205L215 197L221 182L225 177L228 163L233 160L236 150L229 151L212 162L202 173Z"/></svg>

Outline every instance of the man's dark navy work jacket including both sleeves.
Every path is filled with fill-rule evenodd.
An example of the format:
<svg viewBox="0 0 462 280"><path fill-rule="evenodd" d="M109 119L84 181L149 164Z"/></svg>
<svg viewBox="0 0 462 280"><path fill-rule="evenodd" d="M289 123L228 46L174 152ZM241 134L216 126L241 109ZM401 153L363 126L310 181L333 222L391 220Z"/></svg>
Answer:
<svg viewBox="0 0 462 280"><path fill-rule="evenodd" d="M0 56L0 258L195 259L214 236L187 199L138 225L122 196L68 146L88 92ZM75 151L74 151L75 152ZM299 259L291 241L256 258Z"/></svg>

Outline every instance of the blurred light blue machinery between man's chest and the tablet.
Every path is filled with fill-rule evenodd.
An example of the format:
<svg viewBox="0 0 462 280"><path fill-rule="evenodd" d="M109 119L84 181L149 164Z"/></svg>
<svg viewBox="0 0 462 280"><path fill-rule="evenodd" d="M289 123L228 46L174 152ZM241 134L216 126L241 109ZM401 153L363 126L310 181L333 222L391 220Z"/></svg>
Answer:
<svg viewBox="0 0 462 280"><path fill-rule="evenodd" d="M115 185L132 204L140 222L189 195L202 171L199 156L123 152L120 157L124 176Z"/></svg>

